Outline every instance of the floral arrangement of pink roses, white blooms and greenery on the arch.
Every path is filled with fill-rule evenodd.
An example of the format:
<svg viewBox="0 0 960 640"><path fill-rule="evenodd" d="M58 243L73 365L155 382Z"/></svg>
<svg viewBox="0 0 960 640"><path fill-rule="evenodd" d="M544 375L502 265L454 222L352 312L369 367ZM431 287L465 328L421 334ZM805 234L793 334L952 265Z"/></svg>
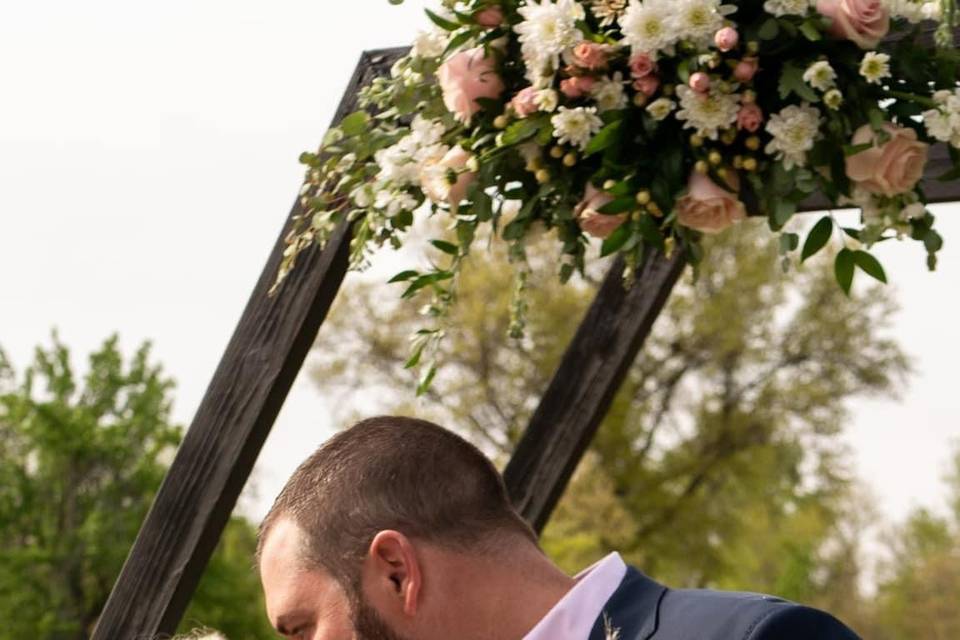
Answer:
<svg viewBox="0 0 960 640"><path fill-rule="evenodd" d="M362 110L304 154L278 284L344 219L359 267L400 246L415 215L443 216L442 259L392 280L404 297L433 294L412 367L442 338L482 226L521 264L530 235L554 231L562 279L597 244L628 279L649 251L682 247L696 265L703 234L747 215L767 217L785 264L842 238L848 292L857 269L885 281L868 249L890 238L922 242L934 268L942 241L920 179L937 142L954 166L943 178L960 177L955 0L728 2L442 0ZM861 224L826 215L801 247L785 225L814 193L859 208Z"/></svg>

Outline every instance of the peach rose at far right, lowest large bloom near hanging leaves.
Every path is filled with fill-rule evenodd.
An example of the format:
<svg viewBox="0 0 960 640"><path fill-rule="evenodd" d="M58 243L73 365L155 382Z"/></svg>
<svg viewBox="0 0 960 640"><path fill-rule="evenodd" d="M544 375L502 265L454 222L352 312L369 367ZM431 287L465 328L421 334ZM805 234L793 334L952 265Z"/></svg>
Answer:
<svg viewBox="0 0 960 640"><path fill-rule="evenodd" d="M870 193L895 196L913 189L923 177L929 145L917 141L913 129L887 122L883 130L890 134L890 139L879 146L868 124L853 134L851 144L872 142L874 146L847 156L847 176Z"/></svg>

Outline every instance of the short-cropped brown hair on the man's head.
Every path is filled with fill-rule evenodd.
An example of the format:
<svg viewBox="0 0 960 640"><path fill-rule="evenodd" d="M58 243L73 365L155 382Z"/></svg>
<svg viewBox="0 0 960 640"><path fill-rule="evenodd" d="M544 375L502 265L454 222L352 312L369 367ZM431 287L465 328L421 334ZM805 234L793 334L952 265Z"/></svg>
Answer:
<svg viewBox="0 0 960 640"><path fill-rule="evenodd" d="M304 532L305 563L354 592L360 561L385 529L460 550L504 533L536 543L479 449L431 422L395 416L357 423L297 468L260 525L258 555L285 517Z"/></svg>

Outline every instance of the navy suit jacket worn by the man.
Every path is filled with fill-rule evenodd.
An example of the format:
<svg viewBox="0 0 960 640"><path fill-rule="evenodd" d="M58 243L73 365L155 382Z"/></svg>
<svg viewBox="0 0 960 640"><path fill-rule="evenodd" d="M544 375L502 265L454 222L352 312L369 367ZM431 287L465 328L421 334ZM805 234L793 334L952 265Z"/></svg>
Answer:
<svg viewBox="0 0 960 640"><path fill-rule="evenodd" d="M823 611L755 593L668 589L632 567L607 601L590 640L860 640Z"/></svg>

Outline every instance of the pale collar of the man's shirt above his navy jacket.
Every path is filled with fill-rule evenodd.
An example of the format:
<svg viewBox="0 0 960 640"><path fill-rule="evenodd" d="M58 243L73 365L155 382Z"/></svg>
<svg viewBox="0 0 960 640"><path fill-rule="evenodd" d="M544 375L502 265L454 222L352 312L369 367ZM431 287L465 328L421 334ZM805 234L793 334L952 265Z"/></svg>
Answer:
<svg viewBox="0 0 960 640"><path fill-rule="evenodd" d="M584 569L575 578L577 584L523 640L587 640L626 574L627 565L616 552Z"/></svg>

